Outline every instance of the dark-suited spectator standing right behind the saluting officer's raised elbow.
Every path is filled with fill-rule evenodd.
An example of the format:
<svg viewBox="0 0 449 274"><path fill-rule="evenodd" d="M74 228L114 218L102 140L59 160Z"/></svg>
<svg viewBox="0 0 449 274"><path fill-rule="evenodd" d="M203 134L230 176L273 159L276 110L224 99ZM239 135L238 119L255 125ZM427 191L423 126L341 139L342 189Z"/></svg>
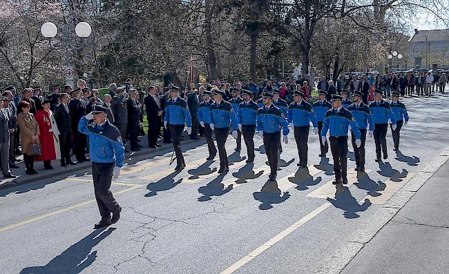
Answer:
<svg viewBox="0 0 449 274"><path fill-rule="evenodd" d="M80 100L81 88L75 88L70 92L72 99L68 103L68 108L70 110L70 124L72 125L73 139L75 141L75 156L79 163L88 161L86 155L86 136L77 130L79 120L86 115L86 104L84 101Z"/></svg>

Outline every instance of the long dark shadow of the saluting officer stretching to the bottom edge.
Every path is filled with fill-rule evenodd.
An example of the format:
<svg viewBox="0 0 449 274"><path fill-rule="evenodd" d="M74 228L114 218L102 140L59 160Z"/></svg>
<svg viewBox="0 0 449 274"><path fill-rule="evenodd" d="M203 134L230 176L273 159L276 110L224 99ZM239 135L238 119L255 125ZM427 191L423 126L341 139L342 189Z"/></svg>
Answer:
<svg viewBox="0 0 449 274"><path fill-rule="evenodd" d="M90 252L102 239L111 235L115 228L97 229L81 241L66 249L45 266L23 268L21 274L77 274L97 259L97 251Z"/></svg>

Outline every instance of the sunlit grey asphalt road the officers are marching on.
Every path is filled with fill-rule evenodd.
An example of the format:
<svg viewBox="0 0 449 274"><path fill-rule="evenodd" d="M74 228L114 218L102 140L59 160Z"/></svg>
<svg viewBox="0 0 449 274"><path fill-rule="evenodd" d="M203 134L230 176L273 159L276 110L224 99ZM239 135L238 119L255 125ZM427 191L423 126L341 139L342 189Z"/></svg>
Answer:
<svg viewBox="0 0 449 274"><path fill-rule="evenodd" d="M2 273L318 273L354 231L376 224L389 199L448 146L448 95L404 100L410 122L401 154L374 162L367 139L366 174L336 189L332 159L321 159L309 135L309 168L298 170L293 133L283 144L277 183L269 183L262 140L245 164L229 137L231 171L218 175L206 146L184 147L187 168L169 166L171 153L122 169L112 190L120 221L93 230L99 213L91 176L54 177L0 192ZM445 126L446 125L446 126ZM242 144L244 142L242 141ZM350 150L352 148L350 147ZM330 153L327 155L330 157ZM86 170L87 172L88 170ZM349 254L349 253L348 253Z"/></svg>

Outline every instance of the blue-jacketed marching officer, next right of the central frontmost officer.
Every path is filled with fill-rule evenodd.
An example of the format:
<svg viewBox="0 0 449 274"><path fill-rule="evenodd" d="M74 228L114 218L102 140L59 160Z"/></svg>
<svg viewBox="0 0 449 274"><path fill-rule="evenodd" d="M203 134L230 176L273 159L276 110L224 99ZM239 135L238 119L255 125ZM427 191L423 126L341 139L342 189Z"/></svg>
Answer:
<svg viewBox="0 0 449 274"><path fill-rule="evenodd" d="M315 134L318 134L318 125L316 124L316 115L312 105L304 100L304 93L295 90L293 100L288 109L287 122L294 129L299 155L299 163L297 165L305 168L307 167L307 153L309 150L307 141L309 140L310 122L312 121Z"/></svg>

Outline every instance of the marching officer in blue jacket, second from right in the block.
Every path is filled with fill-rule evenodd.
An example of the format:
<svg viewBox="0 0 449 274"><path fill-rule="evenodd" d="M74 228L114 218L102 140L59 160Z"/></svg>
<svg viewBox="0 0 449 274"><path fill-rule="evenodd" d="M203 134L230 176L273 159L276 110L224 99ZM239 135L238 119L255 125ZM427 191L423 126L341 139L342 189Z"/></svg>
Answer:
<svg viewBox="0 0 449 274"><path fill-rule="evenodd" d="M391 110L390 104L383 101L382 90L374 90L374 101L370 103L372 119L374 120L374 143L376 144L376 162L381 162L381 153L383 159L388 159L387 153L387 130L388 120L392 122L392 130L396 130L396 117Z"/></svg>

